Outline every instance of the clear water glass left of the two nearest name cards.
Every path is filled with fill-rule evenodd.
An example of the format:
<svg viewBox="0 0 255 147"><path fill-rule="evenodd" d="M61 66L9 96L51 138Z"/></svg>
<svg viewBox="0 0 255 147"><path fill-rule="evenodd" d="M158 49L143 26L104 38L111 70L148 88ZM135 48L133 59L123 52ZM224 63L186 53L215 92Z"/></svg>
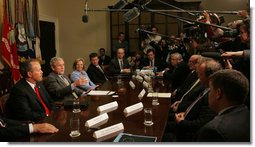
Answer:
<svg viewBox="0 0 255 147"><path fill-rule="evenodd" d="M80 133L80 119L77 115L74 115L70 119L70 136L71 137L78 137L81 135Z"/></svg>

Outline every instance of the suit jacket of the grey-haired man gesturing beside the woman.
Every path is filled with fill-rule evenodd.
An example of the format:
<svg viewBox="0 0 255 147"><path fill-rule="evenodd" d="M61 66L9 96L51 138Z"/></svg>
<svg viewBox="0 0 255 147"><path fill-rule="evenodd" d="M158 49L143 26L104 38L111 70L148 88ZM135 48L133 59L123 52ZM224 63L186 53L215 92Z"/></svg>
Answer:
<svg viewBox="0 0 255 147"><path fill-rule="evenodd" d="M68 86L66 86L66 84L59 77L59 75L54 72L51 72L44 81L44 85L54 101L65 101L74 98L74 96L72 95L73 90L71 87L71 81L66 75L63 76L69 82ZM78 95L82 94L82 91L78 88L75 88L74 91Z"/></svg>

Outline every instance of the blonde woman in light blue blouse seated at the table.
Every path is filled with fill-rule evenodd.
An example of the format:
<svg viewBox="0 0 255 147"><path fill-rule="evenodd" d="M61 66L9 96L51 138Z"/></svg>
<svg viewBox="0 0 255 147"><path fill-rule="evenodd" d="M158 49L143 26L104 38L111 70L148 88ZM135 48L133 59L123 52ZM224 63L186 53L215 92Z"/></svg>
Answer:
<svg viewBox="0 0 255 147"><path fill-rule="evenodd" d="M73 69L74 71L72 72L70 79L72 82L78 80L81 76L87 79L87 83L84 85L80 85L79 88L85 91L88 90L93 90L97 87L89 78L88 74L84 70L84 59L83 58L78 58L74 61L73 63Z"/></svg>

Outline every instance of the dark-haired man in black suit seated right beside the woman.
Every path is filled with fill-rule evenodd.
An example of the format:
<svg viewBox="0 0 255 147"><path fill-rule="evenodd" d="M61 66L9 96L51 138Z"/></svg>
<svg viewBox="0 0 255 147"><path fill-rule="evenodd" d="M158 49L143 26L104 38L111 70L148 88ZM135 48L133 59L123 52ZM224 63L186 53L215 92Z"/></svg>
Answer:
<svg viewBox="0 0 255 147"><path fill-rule="evenodd" d="M89 55L90 65L87 69L88 76L90 80L94 83L104 83L107 80L107 77L98 64L98 56L96 53L91 53Z"/></svg>

